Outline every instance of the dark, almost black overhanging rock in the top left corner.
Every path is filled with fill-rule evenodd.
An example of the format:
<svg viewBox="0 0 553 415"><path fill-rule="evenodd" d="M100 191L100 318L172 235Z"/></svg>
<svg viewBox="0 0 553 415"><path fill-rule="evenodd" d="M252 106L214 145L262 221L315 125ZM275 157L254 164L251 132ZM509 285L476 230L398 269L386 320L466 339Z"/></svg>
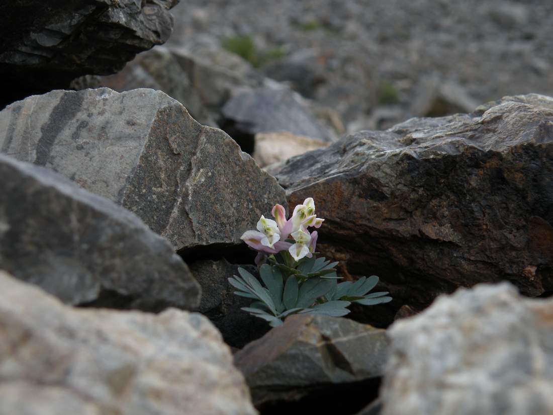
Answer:
<svg viewBox="0 0 553 415"><path fill-rule="evenodd" d="M0 108L65 88L76 76L113 74L173 30L179 0L24 0L0 4Z"/></svg>

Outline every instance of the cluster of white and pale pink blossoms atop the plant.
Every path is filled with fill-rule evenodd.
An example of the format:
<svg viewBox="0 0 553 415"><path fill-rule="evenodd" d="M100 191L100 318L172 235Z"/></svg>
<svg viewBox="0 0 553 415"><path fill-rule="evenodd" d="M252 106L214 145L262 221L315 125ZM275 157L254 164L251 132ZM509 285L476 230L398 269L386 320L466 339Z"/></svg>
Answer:
<svg viewBox="0 0 553 415"><path fill-rule="evenodd" d="M246 231L241 239L258 251L255 262L259 263L267 255L288 251L295 261L311 258L317 244L317 231L309 232L309 227L321 227L324 219L315 215L315 201L307 198L297 205L294 213L286 219L282 205L274 205L271 211L275 220L263 215L257 222L257 231Z"/></svg>

